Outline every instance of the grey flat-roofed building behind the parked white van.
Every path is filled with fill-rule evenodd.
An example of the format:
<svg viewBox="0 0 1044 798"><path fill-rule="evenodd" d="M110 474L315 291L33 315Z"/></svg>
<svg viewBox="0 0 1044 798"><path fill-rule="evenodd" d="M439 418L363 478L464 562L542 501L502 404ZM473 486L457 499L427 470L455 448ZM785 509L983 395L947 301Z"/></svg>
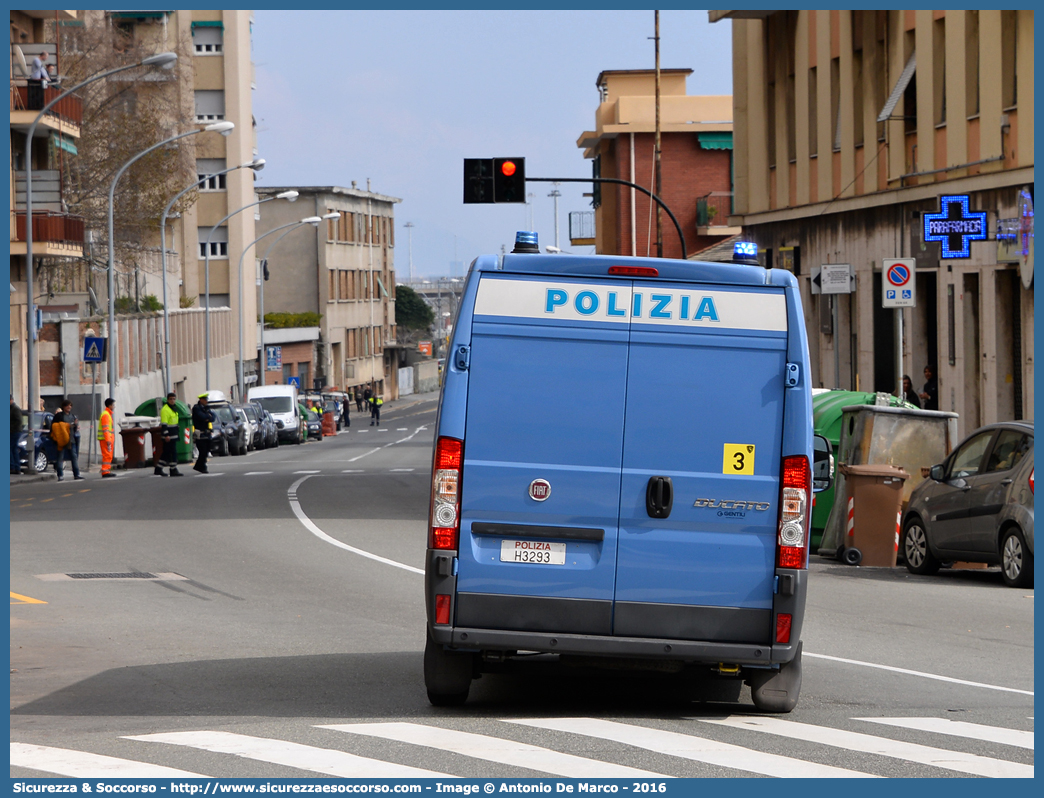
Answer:
<svg viewBox="0 0 1044 798"><path fill-rule="evenodd" d="M354 184L352 188L266 187L258 194L263 198L290 188L300 192L295 203L277 201L259 206L259 236L312 215L336 213L337 218L324 220L317 230L303 226L272 245L264 312L319 315L314 366L309 372L311 384L302 382L303 386L373 384L384 399L398 398L395 205L402 201ZM267 251L268 242L275 240L272 236L259 247ZM264 354L268 362L268 353ZM267 384L284 382L292 374L290 370L284 374L288 360L285 356L280 359L280 366L265 372ZM302 365L295 368L299 371L293 376L300 376Z"/></svg>

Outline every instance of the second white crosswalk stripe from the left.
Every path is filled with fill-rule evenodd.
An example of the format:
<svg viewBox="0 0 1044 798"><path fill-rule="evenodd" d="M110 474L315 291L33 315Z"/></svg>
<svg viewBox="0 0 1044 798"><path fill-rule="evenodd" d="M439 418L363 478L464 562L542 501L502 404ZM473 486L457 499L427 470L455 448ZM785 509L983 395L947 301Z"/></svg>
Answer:
<svg viewBox="0 0 1044 798"><path fill-rule="evenodd" d="M367 759L346 751L303 746L300 743L288 743L283 740L252 737L228 731L175 731L166 734L128 736L126 740L168 743L201 751L234 754L244 759L274 762L342 778L453 778L445 773L432 773L381 759Z"/></svg>

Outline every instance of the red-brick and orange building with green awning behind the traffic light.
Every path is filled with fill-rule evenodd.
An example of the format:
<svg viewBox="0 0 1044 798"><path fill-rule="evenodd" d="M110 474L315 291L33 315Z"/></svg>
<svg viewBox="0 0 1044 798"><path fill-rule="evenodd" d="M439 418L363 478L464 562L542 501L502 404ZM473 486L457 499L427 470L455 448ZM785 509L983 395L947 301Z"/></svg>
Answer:
<svg viewBox="0 0 1044 798"><path fill-rule="evenodd" d="M674 214L687 254L712 247L738 232L729 228L732 211L732 97L689 96L691 69L660 70L660 198ZM656 152L656 71L606 70L598 75L595 130L576 145L592 162L595 178L625 180L652 190ZM603 255L657 254L656 204L641 191L617 184L595 184L594 243ZM651 208L650 208L651 205ZM664 213L663 254L682 257L681 240Z"/></svg>

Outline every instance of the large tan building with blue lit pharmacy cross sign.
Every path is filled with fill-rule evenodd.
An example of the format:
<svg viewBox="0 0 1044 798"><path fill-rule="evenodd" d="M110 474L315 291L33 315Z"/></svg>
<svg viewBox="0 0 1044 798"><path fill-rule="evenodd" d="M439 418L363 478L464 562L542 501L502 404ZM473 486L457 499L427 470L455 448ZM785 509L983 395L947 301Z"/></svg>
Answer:
<svg viewBox="0 0 1044 798"><path fill-rule="evenodd" d="M931 365L963 431L1033 418L1034 13L710 19L732 26L732 222L798 276L814 384L920 388ZM885 258L916 261L901 369ZM853 292L812 294L846 263Z"/></svg>

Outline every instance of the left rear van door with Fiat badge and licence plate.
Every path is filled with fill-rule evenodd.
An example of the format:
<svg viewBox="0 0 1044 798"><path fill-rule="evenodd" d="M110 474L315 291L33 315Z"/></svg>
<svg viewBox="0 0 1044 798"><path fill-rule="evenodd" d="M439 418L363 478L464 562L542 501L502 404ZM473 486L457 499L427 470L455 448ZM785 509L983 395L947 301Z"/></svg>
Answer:
<svg viewBox="0 0 1044 798"><path fill-rule="evenodd" d="M482 275L457 626L611 634L630 302L630 281Z"/></svg>

